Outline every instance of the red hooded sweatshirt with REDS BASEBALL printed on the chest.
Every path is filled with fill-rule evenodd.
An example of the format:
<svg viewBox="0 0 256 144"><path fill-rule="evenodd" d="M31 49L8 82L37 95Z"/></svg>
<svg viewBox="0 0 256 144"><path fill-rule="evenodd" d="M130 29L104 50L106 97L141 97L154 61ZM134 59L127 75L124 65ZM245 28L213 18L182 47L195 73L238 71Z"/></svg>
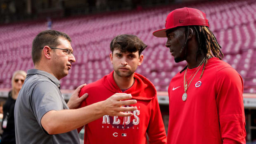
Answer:
<svg viewBox="0 0 256 144"><path fill-rule="evenodd" d="M81 89L79 97L89 96L80 107L103 101L122 91L116 85L112 71L109 75ZM105 115L85 125L84 144L146 144L146 133L150 144L166 144L166 132L156 97L154 85L144 76L135 73L135 82L125 91L130 93L137 103L133 116L118 117ZM125 121L124 121L125 120ZM80 132L81 128L78 128Z"/></svg>

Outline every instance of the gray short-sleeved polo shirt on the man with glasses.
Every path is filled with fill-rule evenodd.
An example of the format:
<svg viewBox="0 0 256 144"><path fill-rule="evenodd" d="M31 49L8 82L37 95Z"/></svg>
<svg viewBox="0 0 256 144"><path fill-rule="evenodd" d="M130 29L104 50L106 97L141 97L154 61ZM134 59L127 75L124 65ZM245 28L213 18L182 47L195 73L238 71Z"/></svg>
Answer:
<svg viewBox="0 0 256 144"><path fill-rule="evenodd" d="M28 70L14 108L17 144L79 144L77 130L49 135L41 118L51 110L69 109L60 92L60 82L50 73Z"/></svg>

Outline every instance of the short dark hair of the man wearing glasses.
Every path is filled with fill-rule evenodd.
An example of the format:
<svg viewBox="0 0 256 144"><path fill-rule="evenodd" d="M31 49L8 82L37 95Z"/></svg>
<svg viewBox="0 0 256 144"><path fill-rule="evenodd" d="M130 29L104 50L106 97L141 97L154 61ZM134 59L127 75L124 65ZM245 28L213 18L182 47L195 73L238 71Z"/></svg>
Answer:
<svg viewBox="0 0 256 144"><path fill-rule="evenodd" d="M47 30L36 35L32 43L32 60L34 65L41 58L40 47L45 47L46 45L49 47L57 47L59 45L59 37L66 38L66 40L71 42L69 35L60 31Z"/></svg>

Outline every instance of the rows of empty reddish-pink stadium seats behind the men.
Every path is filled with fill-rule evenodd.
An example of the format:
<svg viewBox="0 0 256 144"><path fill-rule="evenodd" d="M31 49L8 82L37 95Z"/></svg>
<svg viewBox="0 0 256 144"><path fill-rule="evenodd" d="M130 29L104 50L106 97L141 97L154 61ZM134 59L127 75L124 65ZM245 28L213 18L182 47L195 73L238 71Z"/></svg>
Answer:
<svg viewBox="0 0 256 144"><path fill-rule="evenodd" d="M223 0L150 8L140 12L119 13L52 19L52 28L71 36L76 63L63 78L62 89L73 89L92 83L112 71L109 43L116 35L137 35L148 45L142 52L145 59L136 72L146 76L156 89L166 91L173 76L186 65L175 63L165 48L166 39L155 38L152 32L164 28L166 15L178 7L194 7L206 13L210 29L223 47L224 61L244 78L244 92L256 92L256 1ZM33 68L31 43L45 23L34 21L0 27L0 88L10 88L11 73Z"/></svg>

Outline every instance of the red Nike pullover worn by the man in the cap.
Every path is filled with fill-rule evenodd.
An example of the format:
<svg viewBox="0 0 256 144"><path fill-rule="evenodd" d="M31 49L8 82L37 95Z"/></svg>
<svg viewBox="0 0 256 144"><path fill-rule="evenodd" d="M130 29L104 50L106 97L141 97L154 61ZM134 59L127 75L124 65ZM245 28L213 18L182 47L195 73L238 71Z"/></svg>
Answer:
<svg viewBox="0 0 256 144"><path fill-rule="evenodd" d="M182 100L185 71L171 80L167 143L245 144L242 77L216 57L208 60L199 79L202 68L188 87L185 102ZM194 76L195 69L187 70L187 79Z"/></svg>

